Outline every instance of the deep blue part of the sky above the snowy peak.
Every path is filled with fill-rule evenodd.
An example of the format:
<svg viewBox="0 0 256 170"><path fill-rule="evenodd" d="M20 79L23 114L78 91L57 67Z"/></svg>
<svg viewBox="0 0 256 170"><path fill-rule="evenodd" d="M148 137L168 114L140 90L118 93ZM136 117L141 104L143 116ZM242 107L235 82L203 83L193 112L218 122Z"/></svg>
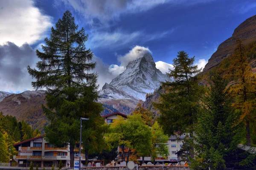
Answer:
<svg viewBox="0 0 256 170"><path fill-rule="evenodd" d="M115 53L124 55L134 45L148 47L155 62L160 60L172 63L177 51L181 50L191 56L195 55L197 60L207 61L218 45L232 36L233 30L240 23L256 14L255 0L195 0L190 4L190 1L186 0L180 3L173 2L175 1L167 0L144 11L122 12L117 17L115 13L125 9L116 10L108 20L103 21L106 23L101 23L103 16L84 16L83 11L78 11L65 0L55 1L54 5L52 0L41 0L36 2L36 6L53 17L52 23L56 23L64 11L70 10L76 18L76 23L84 27L89 34L87 47L109 65L118 65ZM104 15L104 11L102 14ZM88 23L91 18L93 25ZM103 44L99 45L95 44L98 41L90 42L93 36L105 34L111 36L114 33L119 33L121 36L116 37L117 42L106 40L108 44L102 42ZM133 33L138 35L129 37L129 34ZM166 34L157 38L161 33ZM154 36L156 37L152 38Z"/></svg>

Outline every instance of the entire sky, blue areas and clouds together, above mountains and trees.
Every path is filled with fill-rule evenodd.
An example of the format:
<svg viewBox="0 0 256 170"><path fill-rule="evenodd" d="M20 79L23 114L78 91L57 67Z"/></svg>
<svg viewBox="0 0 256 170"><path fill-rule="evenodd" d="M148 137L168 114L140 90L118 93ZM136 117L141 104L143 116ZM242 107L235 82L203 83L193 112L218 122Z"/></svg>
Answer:
<svg viewBox="0 0 256 170"><path fill-rule="evenodd" d="M256 14L256 1L0 1L0 22L4 25L0 28L0 65L10 68L7 73L0 68L0 91L32 90L26 65L35 66L38 59L33 51L40 49L51 26L66 10L89 34L86 45L95 54L93 60L98 63L96 72L102 86L125 69L120 58L129 56L136 45L148 48L158 64L161 61L158 67L162 72L182 50L195 56L196 63L204 67L218 45L231 37L240 23ZM29 46L24 46L26 42ZM14 47L17 53L10 52ZM1 53L1 49L5 52Z"/></svg>

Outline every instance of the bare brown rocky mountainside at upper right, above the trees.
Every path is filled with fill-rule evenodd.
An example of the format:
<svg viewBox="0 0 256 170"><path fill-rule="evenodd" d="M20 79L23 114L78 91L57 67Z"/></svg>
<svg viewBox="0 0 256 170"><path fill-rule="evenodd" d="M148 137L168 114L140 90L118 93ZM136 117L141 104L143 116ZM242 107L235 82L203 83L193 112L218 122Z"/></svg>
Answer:
<svg viewBox="0 0 256 170"><path fill-rule="evenodd" d="M222 42L212 57L205 65L203 72L209 71L217 66L224 58L233 54L236 48L236 38L239 38L244 45L256 40L256 15L241 23L234 31L232 37Z"/></svg>

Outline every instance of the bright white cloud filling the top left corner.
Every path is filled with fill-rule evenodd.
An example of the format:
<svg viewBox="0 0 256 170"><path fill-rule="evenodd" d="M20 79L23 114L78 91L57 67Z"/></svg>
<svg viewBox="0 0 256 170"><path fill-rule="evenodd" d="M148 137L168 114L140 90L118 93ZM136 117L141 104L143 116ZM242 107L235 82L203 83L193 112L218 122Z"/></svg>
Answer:
<svg viewBox="0 0 256 170"><path fill-rule="evenodd" d="M18 46L44 38L44 32L52 26L51 17L32 0L0 0L0 23L0 44L9 41Z"/></svg>

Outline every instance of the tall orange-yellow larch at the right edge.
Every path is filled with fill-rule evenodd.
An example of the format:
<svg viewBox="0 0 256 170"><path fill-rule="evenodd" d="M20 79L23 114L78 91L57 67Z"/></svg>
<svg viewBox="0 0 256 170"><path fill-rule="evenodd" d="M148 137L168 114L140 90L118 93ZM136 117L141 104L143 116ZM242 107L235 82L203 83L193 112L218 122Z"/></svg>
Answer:
<svg viewBox="0 0 256 170"><path fill-rule="evenodd" d="M241 121L244 122L246 128L247 146L251 146L250 122L256 122L256 77L249 65L241 40L237 39L236 43L235 53L230 57L231 63L226 77L235 79L230 87L230 94L236 99L233 106L241 111Z"/></svg>

